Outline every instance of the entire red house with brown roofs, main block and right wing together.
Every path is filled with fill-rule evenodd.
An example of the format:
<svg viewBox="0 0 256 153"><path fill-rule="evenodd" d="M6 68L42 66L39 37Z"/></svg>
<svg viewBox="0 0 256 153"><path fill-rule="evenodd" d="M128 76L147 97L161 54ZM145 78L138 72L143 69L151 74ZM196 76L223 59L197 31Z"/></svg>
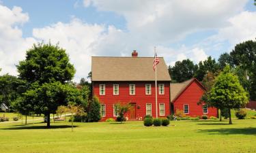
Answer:
<svg viewBox="0 0 256 153"><path fill-rule="evenodd" d="M91 57L91 83L93 95L100 99L102 120L118 116L115 103L130 103L132 109L127 120L143 120L145 115L156 117L156 94L158 117L166 117L180 109L188 116L217 116L217 109L197 105L205 92L202 84L191 79L172 84L164 58L157 65L157 93L153 57Z"/></svg>

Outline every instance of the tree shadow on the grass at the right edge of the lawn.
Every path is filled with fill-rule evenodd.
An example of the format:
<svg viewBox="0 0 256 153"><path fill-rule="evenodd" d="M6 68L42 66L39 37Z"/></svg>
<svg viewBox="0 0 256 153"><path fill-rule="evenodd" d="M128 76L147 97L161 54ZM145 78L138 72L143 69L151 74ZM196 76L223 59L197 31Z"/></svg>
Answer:
<svg viewBox="0 0 256 153"><path fill-rule="evenodd" d="M199 129L199 133L208 133L208 135L255 135L256 128L230 128L230 129Z"/></svg>

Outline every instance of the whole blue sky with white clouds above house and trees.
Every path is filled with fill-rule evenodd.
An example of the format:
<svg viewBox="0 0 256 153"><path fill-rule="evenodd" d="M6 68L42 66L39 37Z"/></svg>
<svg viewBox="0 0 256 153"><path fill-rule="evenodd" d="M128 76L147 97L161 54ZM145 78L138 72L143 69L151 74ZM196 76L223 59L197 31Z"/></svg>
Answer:
<svg viewBox="0 0 256 153"><path fill-rule="evenodd" d="M164 56L167 65L195 63L256 37L253 0L0 0L1 73L17 75L15 65L38 41L66 48L86 77L91 56ZM2 40L2 41L1 41Z"/></svg>

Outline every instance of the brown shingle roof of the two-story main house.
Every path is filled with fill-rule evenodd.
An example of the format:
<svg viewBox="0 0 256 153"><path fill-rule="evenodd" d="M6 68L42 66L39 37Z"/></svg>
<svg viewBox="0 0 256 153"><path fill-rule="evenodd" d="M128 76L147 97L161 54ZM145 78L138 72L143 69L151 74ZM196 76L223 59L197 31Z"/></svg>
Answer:
<svg viewBox="0 0 256 153"><path fill-rule="evenodd" d="M171 81L162 57L157 65L157 80ZM91 57L92 81L154 81L154 57Z"/></svg>

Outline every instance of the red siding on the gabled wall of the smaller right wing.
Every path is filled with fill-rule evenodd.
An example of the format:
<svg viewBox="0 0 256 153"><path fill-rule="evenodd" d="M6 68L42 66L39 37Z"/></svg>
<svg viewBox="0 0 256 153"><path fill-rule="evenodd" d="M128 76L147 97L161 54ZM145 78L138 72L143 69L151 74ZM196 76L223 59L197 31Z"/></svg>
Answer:
<svg viewBox="0 0 256 153"><path fill-rule="evenodd" d="M204 89L201 85L196 81L188 85L188 87L182 92L182 94L175 99L173 102L174 111L180 109L184 111L184 104L188 104L189 113L187 116L202 116L203 115L203 106L197 105L199 99L201 99L203 95ZM208 114L205 114L208 117L215 116L218 117L218 112L216 108L208 107Z"/></svg>

